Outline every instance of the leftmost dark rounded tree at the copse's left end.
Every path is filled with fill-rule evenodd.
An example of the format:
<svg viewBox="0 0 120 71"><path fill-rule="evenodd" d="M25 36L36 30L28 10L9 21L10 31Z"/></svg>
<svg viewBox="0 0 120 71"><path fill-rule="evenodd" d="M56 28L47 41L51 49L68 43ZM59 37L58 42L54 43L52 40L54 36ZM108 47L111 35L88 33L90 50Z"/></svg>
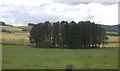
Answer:
<svg viewBox="0 0 120 71"><path fill-rule="evenodd" d="M35 43L37 47L45 47L44 39L46 36L46 30L44 23L35 25L30 31L30 43Z"/></svg>

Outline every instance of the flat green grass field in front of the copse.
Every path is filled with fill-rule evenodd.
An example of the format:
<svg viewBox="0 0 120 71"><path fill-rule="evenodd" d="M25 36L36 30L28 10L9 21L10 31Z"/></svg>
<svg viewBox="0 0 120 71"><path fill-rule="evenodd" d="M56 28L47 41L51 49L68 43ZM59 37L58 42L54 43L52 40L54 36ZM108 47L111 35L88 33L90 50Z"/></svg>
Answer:
<svg viewBox="0 0 120 71"><path fill-rule="evenodd" d="M3 45L3 69L117 69L118 48L50 49Z"/></svg>

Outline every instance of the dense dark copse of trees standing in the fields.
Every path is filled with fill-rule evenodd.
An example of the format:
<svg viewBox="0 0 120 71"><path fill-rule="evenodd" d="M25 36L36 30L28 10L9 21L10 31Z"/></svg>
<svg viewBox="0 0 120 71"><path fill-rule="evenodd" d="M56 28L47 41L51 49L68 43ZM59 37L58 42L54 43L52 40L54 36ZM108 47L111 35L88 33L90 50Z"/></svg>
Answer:
<svg viewBox="0 0 120 71"><path fill-rule="evenodd" d="M30 43L43 48L99 48L107 44L104 28L90 21L36 24L30 31Z"/></svg>

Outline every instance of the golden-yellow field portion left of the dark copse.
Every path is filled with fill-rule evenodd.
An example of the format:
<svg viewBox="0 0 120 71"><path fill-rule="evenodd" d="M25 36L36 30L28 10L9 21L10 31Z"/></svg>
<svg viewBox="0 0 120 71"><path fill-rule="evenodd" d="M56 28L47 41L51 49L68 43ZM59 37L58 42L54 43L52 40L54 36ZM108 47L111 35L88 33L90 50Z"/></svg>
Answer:
<svg viewBox="0 0 120 71"><path fill-rule="evenodd" d="M2 33L2 43L6 45L29 45L29 33Z"/></svg>

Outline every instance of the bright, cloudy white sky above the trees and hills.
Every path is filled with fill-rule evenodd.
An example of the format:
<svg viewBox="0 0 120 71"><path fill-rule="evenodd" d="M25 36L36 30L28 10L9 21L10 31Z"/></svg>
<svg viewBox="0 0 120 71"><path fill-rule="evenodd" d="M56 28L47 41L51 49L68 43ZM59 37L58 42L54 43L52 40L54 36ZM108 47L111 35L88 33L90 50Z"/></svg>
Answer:
<svg viewBox="0 0 120 71"><path fill-rule="evenodd" d="M0 0L0 21L14 26L56 21L118 24L118 0Z"/></svg>

